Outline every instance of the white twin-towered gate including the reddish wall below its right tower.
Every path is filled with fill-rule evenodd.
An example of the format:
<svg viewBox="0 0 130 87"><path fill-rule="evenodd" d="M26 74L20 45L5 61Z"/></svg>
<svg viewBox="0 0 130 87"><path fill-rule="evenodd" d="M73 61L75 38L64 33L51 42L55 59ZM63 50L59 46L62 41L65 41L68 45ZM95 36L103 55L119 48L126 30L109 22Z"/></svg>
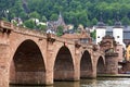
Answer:
<svg viewBox="0 0 130 87"><path fill-rule="evenodd" d="M118 52L118 62L125 61L125 49L126 45L123 42L125 39L125 27L121 25L119 21L115 22L114 26L106 26L103 22L99 22L95 26L96 30L96 45L101 42L104 36L108 35L114 37L115 41L117 42L117 49Z"/></svg>

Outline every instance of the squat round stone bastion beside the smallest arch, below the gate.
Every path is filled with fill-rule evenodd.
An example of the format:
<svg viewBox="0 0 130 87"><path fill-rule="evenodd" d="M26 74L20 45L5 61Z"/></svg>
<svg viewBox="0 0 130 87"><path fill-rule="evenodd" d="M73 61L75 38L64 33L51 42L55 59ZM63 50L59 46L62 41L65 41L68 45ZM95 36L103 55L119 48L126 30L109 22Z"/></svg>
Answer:
<svg viewBox="0 0 130 87"><path fill-rule="evenodd" d="M106 74L118 74L118 53L106 53L105 54L105 73Z"/></svg>

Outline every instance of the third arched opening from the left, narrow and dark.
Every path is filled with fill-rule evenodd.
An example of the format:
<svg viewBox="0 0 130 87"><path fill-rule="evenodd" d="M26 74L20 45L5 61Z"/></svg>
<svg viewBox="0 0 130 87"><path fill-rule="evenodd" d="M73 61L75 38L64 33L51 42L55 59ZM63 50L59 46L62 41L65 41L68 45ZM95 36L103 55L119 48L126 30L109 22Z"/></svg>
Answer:
<svg viewBox="0 0 130 87"><path fill-rule="evenodd" d="M92 61L91 61L91 55L88 51L84 51L81 57L80 77L81 78L92 77Z"/></svg>

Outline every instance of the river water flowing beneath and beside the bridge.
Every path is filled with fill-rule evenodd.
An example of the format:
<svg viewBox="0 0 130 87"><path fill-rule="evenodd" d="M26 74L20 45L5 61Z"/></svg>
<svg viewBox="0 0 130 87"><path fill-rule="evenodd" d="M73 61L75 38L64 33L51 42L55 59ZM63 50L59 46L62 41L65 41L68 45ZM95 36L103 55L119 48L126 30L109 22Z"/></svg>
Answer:
<svg viewBox="0 0 130 87"><path fill-rule="evenodd" d="M54 82L53 86L10 86L10 87L130 87L130 78L98 78L80 82Z"/></svg>

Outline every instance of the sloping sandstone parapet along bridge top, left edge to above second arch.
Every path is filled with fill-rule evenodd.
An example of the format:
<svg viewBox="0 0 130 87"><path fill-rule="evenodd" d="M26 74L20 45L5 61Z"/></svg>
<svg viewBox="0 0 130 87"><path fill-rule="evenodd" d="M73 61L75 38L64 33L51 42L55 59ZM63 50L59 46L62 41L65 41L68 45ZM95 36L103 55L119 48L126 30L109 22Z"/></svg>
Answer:
<svg viewBox="0 0 130 87"><path fill-rule="evenodd" d="M46 34L43 32L39 32L36 29L26 28L26 27L20 27L20 26L17 27L17 26L15 26L9 22L4 22L4 21L0 21L0 27L11 29L11 30L18 33L18 34L29 35L32 37L39 37L40 39L48 38L48 36L49 36L49 37L54 38L55 40L61 41L61 42L67 42L67 44L72 44L72 45L75 44L75 41L73 41L73 40L61 38L61 37L57 37L56 35L53 35L53 34Z"/></svg>

